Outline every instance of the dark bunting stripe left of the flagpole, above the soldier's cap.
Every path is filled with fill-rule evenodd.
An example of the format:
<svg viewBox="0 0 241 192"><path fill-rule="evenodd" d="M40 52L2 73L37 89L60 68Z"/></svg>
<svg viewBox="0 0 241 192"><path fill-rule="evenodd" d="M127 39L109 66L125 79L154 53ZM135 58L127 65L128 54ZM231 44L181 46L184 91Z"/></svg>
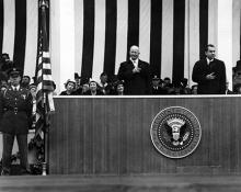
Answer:
<svg viewBox="0 0 241 192"><path fill-rule="evenodd" d="M15 1L15 38L13 61L21 70L24 69L26 43L26 0Z"/></svg>

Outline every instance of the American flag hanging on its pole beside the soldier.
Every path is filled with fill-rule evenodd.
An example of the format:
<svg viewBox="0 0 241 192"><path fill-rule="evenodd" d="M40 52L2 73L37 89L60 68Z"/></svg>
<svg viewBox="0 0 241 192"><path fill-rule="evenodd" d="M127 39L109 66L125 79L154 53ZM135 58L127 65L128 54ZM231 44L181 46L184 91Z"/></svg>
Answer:
<svg viewBox="0 0 241 192"><path fill-rule="evenodd" d="M49 57L48 33L46 25L48 2L39 1L39 36L38 57L36 64L36 132L39 135L43 128L49 125L49 113L55 111L53 91L54 81L51 79L51 66Z"/></svg>

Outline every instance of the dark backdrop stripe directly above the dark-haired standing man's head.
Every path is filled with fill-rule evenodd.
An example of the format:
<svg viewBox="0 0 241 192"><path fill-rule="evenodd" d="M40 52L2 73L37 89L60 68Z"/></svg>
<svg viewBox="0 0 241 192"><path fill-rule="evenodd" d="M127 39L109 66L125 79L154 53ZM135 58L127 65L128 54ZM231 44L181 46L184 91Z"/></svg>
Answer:
<svg viewBox="0 0 241 192"><path fill-rule="evenodd" d="M208 44L208 0L199 1L199 57L205 57L205 47Z"/></svg>

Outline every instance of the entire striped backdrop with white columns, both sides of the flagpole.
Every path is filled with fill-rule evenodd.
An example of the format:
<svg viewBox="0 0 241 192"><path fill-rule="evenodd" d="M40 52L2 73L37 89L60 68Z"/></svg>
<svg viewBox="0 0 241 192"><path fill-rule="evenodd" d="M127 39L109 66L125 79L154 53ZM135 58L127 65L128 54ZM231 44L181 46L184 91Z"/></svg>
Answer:
<svg viewBox="0 0 241 192"><path fill-rule="evenodd" d="M193 65L204 56L205 45L219 43L220 1L50 0L50 56L57 91L74 72L95 80L103 71L117 74L130 45L140 47L140 59L150 63L153 75L173 81L187 78L192 84ZM0 50L31 77L36 66L37 11L37 0L0 0ZM239 0L232 1L231 14L229 71L240 58Z"/></svg>

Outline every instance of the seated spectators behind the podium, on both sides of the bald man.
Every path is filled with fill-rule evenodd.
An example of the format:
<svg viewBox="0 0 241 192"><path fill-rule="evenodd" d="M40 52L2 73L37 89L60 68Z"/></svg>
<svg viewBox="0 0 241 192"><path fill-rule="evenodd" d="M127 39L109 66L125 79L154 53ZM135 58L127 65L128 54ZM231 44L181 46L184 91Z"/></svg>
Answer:
<svg viewBox="0 0 241 192"><path fill-rule="evenodd" d="M78 77L73 80L68 79L65 83L65 90L60 95L125 95L125 83L117 76L108 78L107 74L102 72L100 80ZM197 94L197 84L191 88L187 79L182 79L179 86L174 86L170 78L163 80L158 76L151 79L150 92L144 95L173 95L173 94Z"/></svg>

